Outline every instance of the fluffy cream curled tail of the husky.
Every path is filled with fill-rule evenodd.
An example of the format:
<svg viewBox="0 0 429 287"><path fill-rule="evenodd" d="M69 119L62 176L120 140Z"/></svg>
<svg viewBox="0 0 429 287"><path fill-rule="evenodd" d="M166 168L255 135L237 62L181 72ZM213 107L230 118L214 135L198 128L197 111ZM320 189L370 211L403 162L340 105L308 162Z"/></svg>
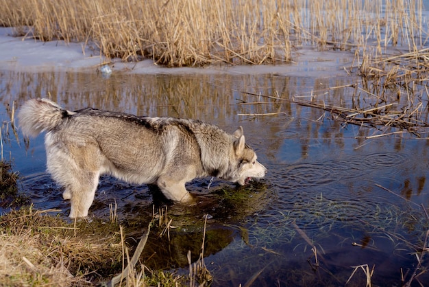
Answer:
<svg viewBox="0 0 429 287"><path fill-rule="evenodd" d="M64 110L55 102L32 99L20 108L18 121L24 135L36 137L43 131L53 130L67 115L73 115L73 112Z"/></svg>

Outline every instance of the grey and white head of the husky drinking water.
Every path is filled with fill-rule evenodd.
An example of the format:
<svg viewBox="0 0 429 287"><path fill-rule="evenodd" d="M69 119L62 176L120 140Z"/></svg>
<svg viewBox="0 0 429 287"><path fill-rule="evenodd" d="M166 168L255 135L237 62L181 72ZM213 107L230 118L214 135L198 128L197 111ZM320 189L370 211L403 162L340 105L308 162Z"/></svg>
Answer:
<svg viewBox="0 0 429 287"><path fill-rule="evenodd" d="M245 143L243 128L240 126L233 134L233 157L230 163L235 170L232 172L230 181L239 185L245 185L249 179L262 179L267 173L267 168L257 161L256 153ZM234 169L234 168L233 168Z"/></svg>

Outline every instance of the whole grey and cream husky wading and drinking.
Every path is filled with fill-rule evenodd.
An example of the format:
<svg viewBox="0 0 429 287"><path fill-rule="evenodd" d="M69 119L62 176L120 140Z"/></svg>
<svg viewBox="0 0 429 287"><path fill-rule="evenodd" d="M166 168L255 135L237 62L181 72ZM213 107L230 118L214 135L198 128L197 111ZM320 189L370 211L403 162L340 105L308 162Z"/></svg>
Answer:
<svg viewBox="0 0 429 287"><path fill-rule="evenodd" d="M18 114L24 135L43 131L47 170L71 200L70 217L84 217L99 176L154 183L165 197L191 202L185 183L201 176L245 185L267 169L245 143L241 126L231 135L193 119L137 117L84 108L67 111L47 99L28 100Z"/></svg>

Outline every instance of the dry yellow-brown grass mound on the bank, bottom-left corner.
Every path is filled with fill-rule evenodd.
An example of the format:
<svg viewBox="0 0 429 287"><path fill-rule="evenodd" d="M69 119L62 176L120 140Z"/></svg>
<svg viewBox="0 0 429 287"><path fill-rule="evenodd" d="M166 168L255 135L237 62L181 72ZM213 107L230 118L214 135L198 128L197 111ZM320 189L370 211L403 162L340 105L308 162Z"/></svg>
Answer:
<svg viewBox="0 0 429 287"><path fill-rule="evenodd" d="M4 286L93 286L121 271L117 225L66 223L31 207L0 217Z"/></svg>

